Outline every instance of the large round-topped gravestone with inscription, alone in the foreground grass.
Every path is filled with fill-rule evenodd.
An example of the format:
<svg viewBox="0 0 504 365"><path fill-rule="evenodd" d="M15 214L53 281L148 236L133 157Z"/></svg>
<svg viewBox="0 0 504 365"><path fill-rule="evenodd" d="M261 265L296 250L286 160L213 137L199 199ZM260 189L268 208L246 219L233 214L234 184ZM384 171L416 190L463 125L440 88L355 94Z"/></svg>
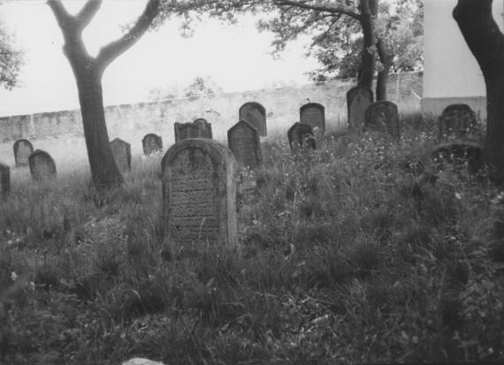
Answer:
<svg viewBox="0 0 504 365"><path fill-rule="evenodd" d="M190 139L168 149L161 162L164 240L237 244L237 169L217 141Z"/></svg>

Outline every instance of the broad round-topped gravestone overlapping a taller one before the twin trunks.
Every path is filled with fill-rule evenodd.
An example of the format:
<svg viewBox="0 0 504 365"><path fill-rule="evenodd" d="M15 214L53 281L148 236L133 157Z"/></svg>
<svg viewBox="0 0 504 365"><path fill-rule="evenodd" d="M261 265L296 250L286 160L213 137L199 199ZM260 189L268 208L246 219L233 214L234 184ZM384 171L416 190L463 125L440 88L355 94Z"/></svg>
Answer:
<svg viewBox="0 0 504 365"><path fill-rule="evenodd" d="M389 133L397 141L401 138L397 105L382 101L370 104L365 112L365 130Z"/></svg>

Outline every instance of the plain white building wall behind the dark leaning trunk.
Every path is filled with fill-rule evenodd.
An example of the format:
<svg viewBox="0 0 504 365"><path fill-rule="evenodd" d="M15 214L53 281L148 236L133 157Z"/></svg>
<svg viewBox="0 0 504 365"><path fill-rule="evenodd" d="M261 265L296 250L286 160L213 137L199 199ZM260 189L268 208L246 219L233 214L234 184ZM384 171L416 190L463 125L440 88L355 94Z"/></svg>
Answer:
<svg viewBox="0 0 504 365"><path fill-rule="evenodd" d="M422 111L439 115L451 103L468 103L486 118L485 80L452 12L457 0L424 0L424 99ZM504 28L504 0L493 1Z"/></svg>

